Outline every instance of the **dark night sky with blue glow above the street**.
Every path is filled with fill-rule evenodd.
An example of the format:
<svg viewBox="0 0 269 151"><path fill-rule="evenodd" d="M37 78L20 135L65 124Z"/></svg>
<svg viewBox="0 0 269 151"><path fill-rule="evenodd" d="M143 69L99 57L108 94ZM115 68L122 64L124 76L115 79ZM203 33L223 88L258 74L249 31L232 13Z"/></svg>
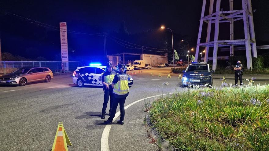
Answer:
<svg viewBox="0 0 269 151"><path fill-rule="evenodd" d="M225 2L222 1L221 7L227 10L225 9L227 6ZM235 9L237 4L235 2ZM173 30L176 47L180 47L181 38L190 40L190 47L195 47L201 5L202 0L1 1L2 52L10 52L31 59L42 56L47 60L61 60L59 31L42 27L37 23L31 23L29 20L11 14L55 27L59 27L59 22L67 22L68 30L83 33L106 32L109 35L138 45L160 49L164 48L163 41L171 42L171 39L169 39L171 33L160 31L160 26L165 25ZM241 7L240 1L239 5ZM258 45L269 44L268 8L268 0L252 1L252 9L257 10L254 12L254 27ZM119 34L123 22L128 36ZM227 27L225 25L221 26L223 31L227 31ZM238 23L238 27L235 27L235 34L239 35L241 32L242 26ZM220 33L220 39L222 37L226 38L225 34L227 33ZM241 37L238 36L238 38ZM104 49L104 37L68 33L68 48L71 61L79 61L79 56L101 56ZM76 51L71 52L74 49ZM127 49L110 39L107 39L107 50L110 54L117 51L140 51Z"/></svg>

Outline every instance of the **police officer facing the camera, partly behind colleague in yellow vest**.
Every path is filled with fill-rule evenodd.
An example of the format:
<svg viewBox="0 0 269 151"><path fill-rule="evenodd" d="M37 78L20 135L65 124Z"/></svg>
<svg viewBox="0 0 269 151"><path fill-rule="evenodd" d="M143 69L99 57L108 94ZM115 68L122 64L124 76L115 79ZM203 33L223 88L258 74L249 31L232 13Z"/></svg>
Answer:
<svg viewBox="0 0 269 151"><path fill-rule="evenodd" d="M101 119L105 118L105 110L107 107L109 96L110 96L109 115L111 114L112 104L113 104L112 103L113 102L112 81L113 81L115 75L116 75L116 72L112 71L112 64L107 63L105 73L102 76L103 90L105 91L105 94L104 94L104 103L103 103L103 108L102 108Z"/></svg>

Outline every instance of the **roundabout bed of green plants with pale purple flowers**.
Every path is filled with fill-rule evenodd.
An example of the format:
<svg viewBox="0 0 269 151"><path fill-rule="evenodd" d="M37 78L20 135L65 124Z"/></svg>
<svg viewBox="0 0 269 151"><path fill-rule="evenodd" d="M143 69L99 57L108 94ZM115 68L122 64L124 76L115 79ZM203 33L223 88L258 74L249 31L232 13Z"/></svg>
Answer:
<svg viewBox="0 0 269 151"><path fill-rule="evenodd" d="M160 136L177 150L268 151L268 98L268 84L223 84L159 98L148 114Z"/></svg>

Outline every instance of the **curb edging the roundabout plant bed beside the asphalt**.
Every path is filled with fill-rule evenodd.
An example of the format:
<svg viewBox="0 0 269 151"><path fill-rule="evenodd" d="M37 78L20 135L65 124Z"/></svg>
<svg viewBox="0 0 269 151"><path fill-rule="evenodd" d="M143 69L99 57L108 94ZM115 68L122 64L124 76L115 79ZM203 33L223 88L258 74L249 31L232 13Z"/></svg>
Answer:
<svg viewBox="0 0 269 151"><path fill-rule="evenodd" d="M146 128L149 135L156 141L156 145L164 151L175 151L176 148L170 144L166 139L162 138L157 129L150 122L149 111L146 113Z"/></svg>

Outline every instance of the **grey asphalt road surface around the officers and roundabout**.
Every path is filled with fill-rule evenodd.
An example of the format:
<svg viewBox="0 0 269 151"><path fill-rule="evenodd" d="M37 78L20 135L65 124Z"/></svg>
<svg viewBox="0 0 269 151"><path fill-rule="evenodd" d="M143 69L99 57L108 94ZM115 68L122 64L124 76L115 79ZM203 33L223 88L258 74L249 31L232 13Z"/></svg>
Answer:
<svg viewBox="0 0 269 151"><path fill-rule="evenodd" d="M167 78L170 69L135 70L136 74L133 71L134 84L130 87L125 106L149 96L184 91L178 74ZM151 73L153 76L150 76ZM158 77L159 73L162 77ZM213 84L220 86L222 77L215 75ZM269 81L269 76L243 76L244 79L251 77L256 77L256 82L261 84ZM225 75L225 78L227 83L234 82L233 75ZM167 86L163 85L165 81L169 83ZM158 150L155 144L149 143L151 140L143 125L146 114L144 103L138 102L125 111L124 125L112 124L109 133L111 151ZM54 76L49 83L39 82L24 87L0 86L0 150L49 151L59 122L63 122L72 143L68 150L101 150L105 128L102 123L109 117L107 115L105 120L100 118L102 104L102 88L78 88L70 75Z"/></svg>

